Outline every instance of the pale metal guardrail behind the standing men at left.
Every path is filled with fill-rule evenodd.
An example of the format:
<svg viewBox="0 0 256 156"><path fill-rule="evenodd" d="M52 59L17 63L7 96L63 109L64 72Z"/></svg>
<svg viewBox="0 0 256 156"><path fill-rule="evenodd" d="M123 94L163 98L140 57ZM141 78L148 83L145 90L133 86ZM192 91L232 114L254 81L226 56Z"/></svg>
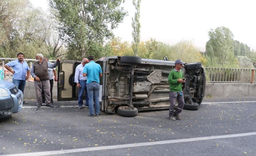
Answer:
<svg viewBox="0 0 256 156"><path fill-rule="evenodd" d="M4 70L4 77L8 76L9 78L11 78L12 76L12 73L7 69L5 69L4 67L5 62L11 62L12 60L17 60L17 58L0 58L0 70L1 69ZM32 64L36 61L36 59L24 59L24 60L28 63L28 66L30 69L32 67ZM56 60L49 60L49 62L55 62L55 61Z"/></svg>

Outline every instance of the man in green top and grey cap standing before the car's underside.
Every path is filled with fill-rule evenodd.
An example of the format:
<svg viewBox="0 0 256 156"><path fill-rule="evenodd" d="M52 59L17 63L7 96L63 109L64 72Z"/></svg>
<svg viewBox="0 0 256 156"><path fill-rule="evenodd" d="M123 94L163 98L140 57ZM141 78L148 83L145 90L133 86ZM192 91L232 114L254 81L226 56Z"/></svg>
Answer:
<svg viewBox="0 0 256 156"><path fill-rule="evenodd" d="M182 92L182 83L185 83L185 78L183 78L183 73L181 71L182 65L185 64L181 60L175 61L175 68L170 71L168 76L168 83L170 86L170 110L169 110L169 119L175 121L181 120L182 118L179 116L183 107L184 107L184 96ZM178 100L178 107L174 112L174 105L176 103L176 99Z"/></svg>

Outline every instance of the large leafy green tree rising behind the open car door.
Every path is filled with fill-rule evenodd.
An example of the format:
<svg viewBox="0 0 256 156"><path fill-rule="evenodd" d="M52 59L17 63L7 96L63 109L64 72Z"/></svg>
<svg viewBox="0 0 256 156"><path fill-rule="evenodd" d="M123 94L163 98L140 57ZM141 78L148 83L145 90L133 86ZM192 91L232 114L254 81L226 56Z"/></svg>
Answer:
<svg viewBox="0 0 256 156"><path fill-rule="evenodd" d="M55 9L57 12L55 16L61 22L60 37L69 47L67 57L75 52L75 55L81 59L87 55L92 46L103 45L106 39L112 38L112 30L127 14L123 7L120 7L123 2L123 0L49 0L50 7Z"/></svg>

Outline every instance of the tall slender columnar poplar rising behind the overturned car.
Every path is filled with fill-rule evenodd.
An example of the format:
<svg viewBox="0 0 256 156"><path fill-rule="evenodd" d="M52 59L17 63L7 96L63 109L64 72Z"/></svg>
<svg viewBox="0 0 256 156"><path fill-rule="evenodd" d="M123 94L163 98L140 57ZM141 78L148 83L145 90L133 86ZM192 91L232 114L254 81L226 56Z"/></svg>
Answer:
<svg viewBox="0 0 256 156"><path fill-rule="evenodd" d="M132 38L133 38L133 43L132 43L132 49L134 52L134 55L138 55L138 50L139 50L139 44L140 44L140 2L141 0L133 0L132 4L134 5L136 12L134 15L134 18L132 18Z"/></svg>

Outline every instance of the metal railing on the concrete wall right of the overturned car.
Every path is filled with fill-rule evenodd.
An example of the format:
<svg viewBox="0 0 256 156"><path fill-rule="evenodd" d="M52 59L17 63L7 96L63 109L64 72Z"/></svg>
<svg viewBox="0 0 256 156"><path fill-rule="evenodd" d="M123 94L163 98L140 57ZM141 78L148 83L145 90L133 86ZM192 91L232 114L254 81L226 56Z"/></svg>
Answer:
<svg viewBox="0 0 256 156"><path fill-rule="evenodd" d="M255 69L204 67L210 83L255 83Z"/></svg>

